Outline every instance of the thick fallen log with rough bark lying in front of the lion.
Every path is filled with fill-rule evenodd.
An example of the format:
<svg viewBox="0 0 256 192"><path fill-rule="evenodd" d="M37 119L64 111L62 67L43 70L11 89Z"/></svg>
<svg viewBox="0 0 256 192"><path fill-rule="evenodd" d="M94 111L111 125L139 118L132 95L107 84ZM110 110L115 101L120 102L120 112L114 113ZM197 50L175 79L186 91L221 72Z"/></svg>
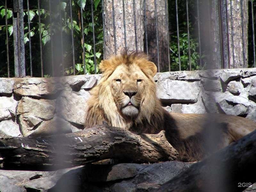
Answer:
<svg viewBox="0 0 256 192"><path fill-rule="evenodd" d="M137 135L105 124L48 137L0 137L2 169L57 170L110 158L155 163L177 156L164 131Z"/></svg>

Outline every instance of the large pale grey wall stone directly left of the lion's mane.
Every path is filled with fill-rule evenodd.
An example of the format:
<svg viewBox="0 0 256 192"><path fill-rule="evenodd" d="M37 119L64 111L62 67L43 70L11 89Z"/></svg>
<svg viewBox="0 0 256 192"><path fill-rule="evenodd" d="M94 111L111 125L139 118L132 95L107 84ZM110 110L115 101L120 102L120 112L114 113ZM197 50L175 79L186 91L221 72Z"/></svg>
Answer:
<svg viewBox="0 0 256 192"><path fill-rule="evenodd" d="M58 108L58 113L68 122L84 124L86 100L84 97L72 92L63 92L59 98L63 106Z"/></svg>

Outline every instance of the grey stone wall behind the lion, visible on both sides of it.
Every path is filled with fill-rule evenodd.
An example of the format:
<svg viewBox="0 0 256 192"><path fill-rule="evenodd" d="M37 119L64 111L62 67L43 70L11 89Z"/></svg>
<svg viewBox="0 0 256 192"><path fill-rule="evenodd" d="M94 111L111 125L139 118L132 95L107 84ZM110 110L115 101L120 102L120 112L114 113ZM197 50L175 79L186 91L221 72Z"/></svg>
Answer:
<svg viewBox="0 0 256 192"><path fill-rule="evenodd" d="M82 129L89 91L100 78L0 78L0 131L36 136ZM170 112L216 112L256 122L256 68L165 72L154 79Z"/></svg>

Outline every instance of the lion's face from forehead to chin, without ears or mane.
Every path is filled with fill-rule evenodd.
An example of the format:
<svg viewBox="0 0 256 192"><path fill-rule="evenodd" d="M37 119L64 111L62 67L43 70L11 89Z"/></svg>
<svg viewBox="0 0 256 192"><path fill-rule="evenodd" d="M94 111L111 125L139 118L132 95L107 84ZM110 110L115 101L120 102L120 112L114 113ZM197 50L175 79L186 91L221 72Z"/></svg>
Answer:
<svg viewBox="0 0 256 192"><path fill-rule="evenodd" d="M137 116L145 93L148 77L136 65L119 65L108 78L118 110L124 116Z"/></svg>

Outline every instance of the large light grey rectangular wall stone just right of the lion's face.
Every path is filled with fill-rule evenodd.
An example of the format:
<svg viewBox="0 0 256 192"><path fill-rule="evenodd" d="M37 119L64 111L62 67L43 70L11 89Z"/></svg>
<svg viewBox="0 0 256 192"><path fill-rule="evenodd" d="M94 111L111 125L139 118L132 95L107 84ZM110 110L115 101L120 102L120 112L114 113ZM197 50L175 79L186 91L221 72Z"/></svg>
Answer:
<svg viewBox="0 0 256 192"><path fill-rule="evenodd" d="M200 82L166 79L157 82L157 97L164 103L195 103L200 91Z"/></svg>

